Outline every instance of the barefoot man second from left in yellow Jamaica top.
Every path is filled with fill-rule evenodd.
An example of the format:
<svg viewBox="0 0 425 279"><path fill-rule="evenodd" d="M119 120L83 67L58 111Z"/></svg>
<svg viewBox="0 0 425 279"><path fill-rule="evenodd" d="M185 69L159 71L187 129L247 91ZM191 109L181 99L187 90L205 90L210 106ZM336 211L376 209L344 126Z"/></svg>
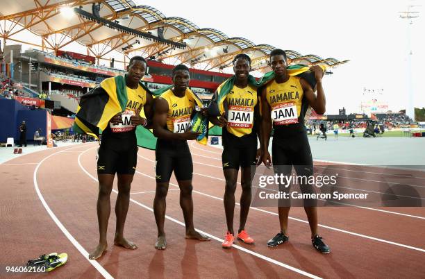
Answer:
<svg viewBox="0 0 425 279"><path fill-rule="evenodd" d="M165 198L173 171L180 187L180 205L185 217L186 238L210 240L194 230L193 224L193 164L187 140L195 140L199 134L190 130L191 115L195 111L196 102L193 93L188 89L189 69L185 65L177 65L172 73L174 88L156 99L153 115L153 135L158 137L153 212L158 226L155 248L160 250L167 246L164 231Z"/></svg>

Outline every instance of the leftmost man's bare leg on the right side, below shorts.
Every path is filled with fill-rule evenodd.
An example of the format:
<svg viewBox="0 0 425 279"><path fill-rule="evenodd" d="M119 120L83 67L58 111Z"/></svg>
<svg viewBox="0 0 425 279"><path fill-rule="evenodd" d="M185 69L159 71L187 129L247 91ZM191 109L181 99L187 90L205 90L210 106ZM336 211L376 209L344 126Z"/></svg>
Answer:
<svg viewBox="0 0 425 279"><path fill-rule="evenodd" d="M126 222L128 205L130 203L130 188L133 174L118 174L118 197L115 203L115 214L117 215L117 226L115 230L114 244L127 249L135 249L133 242L124 238L124 223Z"/></svg>

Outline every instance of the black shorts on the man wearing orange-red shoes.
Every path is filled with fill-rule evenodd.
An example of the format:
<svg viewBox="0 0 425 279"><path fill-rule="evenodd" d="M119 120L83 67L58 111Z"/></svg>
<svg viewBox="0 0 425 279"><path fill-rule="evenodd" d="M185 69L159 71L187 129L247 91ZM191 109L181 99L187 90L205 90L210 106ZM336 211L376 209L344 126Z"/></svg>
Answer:
<svg viewBox="0 0 425 279"><path fill-rule="evenodd" d="M239 169L256 164L257 136L244 135L236 137L223 129L223 169Z"/></svg>

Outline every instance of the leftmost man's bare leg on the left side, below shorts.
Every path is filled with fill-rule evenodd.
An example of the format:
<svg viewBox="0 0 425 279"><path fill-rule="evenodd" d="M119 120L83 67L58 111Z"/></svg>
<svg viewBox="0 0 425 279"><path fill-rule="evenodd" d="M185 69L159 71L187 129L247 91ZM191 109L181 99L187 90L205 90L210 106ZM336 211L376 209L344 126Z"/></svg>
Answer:
<svg viewBox="0 0 425 279"><path fill-rule="evenodd" d="M97 221L99 222L99 244L94 251L89 254L90 260L101 257L108 242L106 241L106 230L110 215L110 192L112 192L114 174L99 174L99 195L97 196Z"/></svg>

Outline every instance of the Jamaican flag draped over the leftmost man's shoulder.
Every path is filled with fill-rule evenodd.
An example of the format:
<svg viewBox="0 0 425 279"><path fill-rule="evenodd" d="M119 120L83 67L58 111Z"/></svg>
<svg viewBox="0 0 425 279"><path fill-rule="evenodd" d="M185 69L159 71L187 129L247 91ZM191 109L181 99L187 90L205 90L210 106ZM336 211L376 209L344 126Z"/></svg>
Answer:
<svg viewBox="0 0 425 279"><path fill-rule="evenodd" d="M142 83L140 86L150 92ZM81 96L74 121L75 133L99 138L110 119L126 110L127 101L125 76L104 79L93 90Z"/></svg>

